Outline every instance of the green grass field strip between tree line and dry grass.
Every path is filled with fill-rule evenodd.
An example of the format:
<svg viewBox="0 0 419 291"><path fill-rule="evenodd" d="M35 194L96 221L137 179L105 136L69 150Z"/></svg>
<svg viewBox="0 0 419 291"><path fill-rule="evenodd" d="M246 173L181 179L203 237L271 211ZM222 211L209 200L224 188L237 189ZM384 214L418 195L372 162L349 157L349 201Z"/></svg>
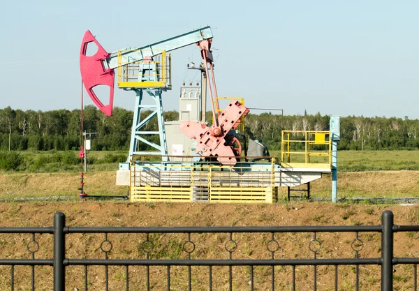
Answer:
<svg viewBox="0 0 419 291"><path fill-rule="evenodd" d="M114 171L118 163L126 161L127 151L89 151L87 168L91 172ZM281 152L271 151L280 161ZM24 173L80 172L82 165L78 151L21 151ZM292 156L291 162L303 162L304 155ZM328 163L324 157L312 158L314 163ZM339 172L419 170L419 151L338 151ZM6 174L10 171L1 171Z"/></svg>

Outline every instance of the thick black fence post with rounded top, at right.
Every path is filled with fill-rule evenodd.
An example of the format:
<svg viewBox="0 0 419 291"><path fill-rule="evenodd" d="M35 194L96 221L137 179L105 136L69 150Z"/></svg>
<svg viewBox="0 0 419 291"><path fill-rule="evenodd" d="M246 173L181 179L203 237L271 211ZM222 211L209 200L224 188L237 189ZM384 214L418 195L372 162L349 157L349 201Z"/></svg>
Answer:
<svg viewBox="0 0 419 291"><path fill-rule="evenodd" d="M392 291L393 222L392 211L381 214L383 232L381 233L381 291Z"/></svg>

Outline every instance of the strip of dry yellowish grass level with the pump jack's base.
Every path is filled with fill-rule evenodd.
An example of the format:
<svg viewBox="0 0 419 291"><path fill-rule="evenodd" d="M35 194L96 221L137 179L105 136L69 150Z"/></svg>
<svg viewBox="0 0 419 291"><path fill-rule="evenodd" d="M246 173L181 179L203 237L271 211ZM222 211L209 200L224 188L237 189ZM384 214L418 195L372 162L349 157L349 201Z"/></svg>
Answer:
<svg viewBox="0 0 419 291"><path fill-rule="evenodd" d="M418 171L339 172L339 197L418 197ZM125 195L126 187L116 186L115 172L88 172L84 191L89 195ZM0 198L74 196L78 193L80 174L39 173L1 174ZM286 188L279 189L286 197ZM330 175L311 183L311 195L330 197Z"/></svg>

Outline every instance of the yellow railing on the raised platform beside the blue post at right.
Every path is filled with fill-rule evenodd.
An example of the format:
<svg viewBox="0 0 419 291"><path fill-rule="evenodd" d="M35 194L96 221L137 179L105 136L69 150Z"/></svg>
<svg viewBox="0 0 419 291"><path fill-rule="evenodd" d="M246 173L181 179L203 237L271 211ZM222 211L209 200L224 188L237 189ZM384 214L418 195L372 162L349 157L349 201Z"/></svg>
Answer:
<svg viewBox="0 0 419 291"><path fill-rule="evenodd" d="M330 131L282 130L281 164L289 167L331 167Z"/></svg>

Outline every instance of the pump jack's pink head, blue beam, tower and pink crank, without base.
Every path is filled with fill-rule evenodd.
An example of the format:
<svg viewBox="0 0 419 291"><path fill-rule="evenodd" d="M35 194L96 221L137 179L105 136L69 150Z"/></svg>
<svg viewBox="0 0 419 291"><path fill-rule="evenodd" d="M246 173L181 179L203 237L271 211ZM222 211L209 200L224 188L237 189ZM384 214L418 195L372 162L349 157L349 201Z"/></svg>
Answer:
<svg viewBox="0 0 419 291"><path fill-rule="evenodd" d="M232 141L236 143L239 141L231 135L233 133L231 130L237 128L240 119L249 112L249 109L240 101L231 100L225 110L222 112L219 110L211 51L212 38L211 28L203 27L151 45L108 53L90 31L84 33L80 47L80 73L84 87L96 106L104 114L108 116L112 114L115 70L117 70L118 87L135 91L136 94L130 149L127 163L122 166L124 170L128 170L128 162L133 155L159 155L163 160L169 160L162 103L163 91L172 89L171 57L167 52L193 44L200 48L205 73L208 76L206 80L214 124L207 126L202 121L184 121L179 130L196 140L194 152L198 156L214 157L223 165L237 163L235 156L240 153L235 150L237 145L233 147ZM87 47L91 43L96 44L98 50L96 54L88 56ZM103 104L96 96L95 88L101 85L110 87L108 104ZM152 98L152 105L143 103L144 92ZM140 120L141 112L145 109L152 109L152 113ZM153 117L157 117L159 130L144 130L143 128L146 128ZM160 144L149 140L147 137L150 135L159 135ZM156 151L138 151L138 142L148 144Z"/></svg>

